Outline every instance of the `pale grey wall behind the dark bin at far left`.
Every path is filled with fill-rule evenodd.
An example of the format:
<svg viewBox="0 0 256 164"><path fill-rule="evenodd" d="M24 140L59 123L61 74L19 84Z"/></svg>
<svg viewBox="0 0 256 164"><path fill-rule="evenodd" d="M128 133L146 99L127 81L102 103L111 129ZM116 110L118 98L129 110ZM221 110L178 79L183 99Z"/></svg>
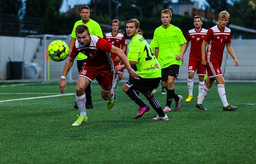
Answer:
<svg viewBox="0 0 256 164"><path fill-rule="evenodd" d="M9 61L22 61L25 38L0 36L0 80L10 77ZM40 39L27 39L24 61L31 62L40 44Z"/></svg>

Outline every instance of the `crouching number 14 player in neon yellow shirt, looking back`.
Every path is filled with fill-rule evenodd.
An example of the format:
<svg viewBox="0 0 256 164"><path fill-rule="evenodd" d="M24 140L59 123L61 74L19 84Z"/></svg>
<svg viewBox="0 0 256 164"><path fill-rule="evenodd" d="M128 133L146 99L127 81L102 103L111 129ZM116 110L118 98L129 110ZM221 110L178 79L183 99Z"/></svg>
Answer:
<svg viewBox="0 0 256 164"><path fill-rule="evenodd" d="M129 44L129 52L127 59L130 65L137 65L140 79L129 79L123 86L124 92L140 106L139 113L135 118L140 118L145 112L149 111L150 107L145 104L140 97L136 94L135 90L139 90L149 101L150 105L158 113L156 118L152 120L165 120L169 118L164 114L158 100L152 95L152 90L159 84L161 79L161 68L159 63L152 52L148 42L138 35L140 22L137 19L130 19L126 24L126 33L130 37L131 44ZM116 66L115 70L125 68L124 65Z"/></svg>

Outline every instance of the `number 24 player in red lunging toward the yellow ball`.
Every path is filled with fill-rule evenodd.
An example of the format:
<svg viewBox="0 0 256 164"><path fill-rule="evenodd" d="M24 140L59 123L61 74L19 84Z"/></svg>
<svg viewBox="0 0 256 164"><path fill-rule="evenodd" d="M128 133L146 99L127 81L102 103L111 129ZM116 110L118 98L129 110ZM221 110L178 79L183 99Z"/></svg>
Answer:
<svg viewBox="0 0 256 164"><path fill-rule="evenodd" d="M72 67L74 60L78 53L86 55L87 62L84 63L81 71L78 75L76 84L76 103L80 111L80 116L72 124L73 126L79 126L81 123L87 122L85 101L86 97L84 89L96 79L101 86L101 97L104 100L108 100L107 109L111 109L114 106L114 92L111 90L114 82L114 64L111 60L110 53L115 53L124 62L124 65L128 68L128 72L133 78L139 79L138 74L131 68L124 52L112 46L106 40L96 36L90 35L89 29L85 25L78 25L76 27L76 43L73 46L72 52L65 63L63 73L60 78L60 92L63 94L66 90L65 77L68 71Z"/></svg>

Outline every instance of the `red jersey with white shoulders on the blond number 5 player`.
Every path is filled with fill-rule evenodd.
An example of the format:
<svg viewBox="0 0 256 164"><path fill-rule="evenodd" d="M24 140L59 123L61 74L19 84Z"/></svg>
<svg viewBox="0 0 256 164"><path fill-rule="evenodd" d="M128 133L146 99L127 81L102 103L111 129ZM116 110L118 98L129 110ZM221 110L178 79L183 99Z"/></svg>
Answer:
<svg viewBox="0 0 256 164"><path fill-rule="evenodd" d="M225 45L231 43L231 30L225 27L225 30L221 31L219 25L215 25L208 30L204 40L208 42L207 62L218 62L221 64Z"/></svg>

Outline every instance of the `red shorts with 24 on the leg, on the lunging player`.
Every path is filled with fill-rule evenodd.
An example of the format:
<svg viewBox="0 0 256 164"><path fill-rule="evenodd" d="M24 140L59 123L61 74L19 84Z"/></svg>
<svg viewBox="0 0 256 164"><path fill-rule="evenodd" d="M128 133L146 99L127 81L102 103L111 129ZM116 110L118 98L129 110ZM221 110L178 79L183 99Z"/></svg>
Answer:
<svg viewBox="0 0 256 164"><path fill-rule="evenodd" d="M115 80L114 71L109 70L98 70L93 68L92 66L86 65L84 63L84 67L82 67L81 71L79 72L79 76L83 76L86 79L92 82L94 79L99 82L101 89L104 92L109 92L113 87L113 82Z"/></svg>

